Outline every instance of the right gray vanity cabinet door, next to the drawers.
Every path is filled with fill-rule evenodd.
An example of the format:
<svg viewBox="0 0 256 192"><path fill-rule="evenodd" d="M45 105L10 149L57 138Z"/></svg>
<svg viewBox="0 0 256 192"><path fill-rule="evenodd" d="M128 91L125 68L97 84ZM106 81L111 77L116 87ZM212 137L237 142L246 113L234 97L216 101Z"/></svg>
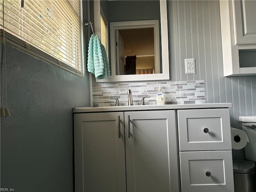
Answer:
<svg viewBox="0 0 256 192"><path fill-rule="evenodd" d="M178 192L174 110L124 112L127 192Z"/></svg>

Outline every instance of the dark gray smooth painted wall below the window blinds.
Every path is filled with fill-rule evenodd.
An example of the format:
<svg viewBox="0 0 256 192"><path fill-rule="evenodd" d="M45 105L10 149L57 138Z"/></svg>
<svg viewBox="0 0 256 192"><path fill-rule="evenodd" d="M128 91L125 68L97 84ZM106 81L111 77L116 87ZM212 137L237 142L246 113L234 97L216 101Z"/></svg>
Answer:
<svg viewBox="0 0 256 192"><path fill-rule="evenodd" d="M73 191L72 108L90 105L88 73L80 78L6 45L6 75L11 116L1 118L0 187Z"/></svg>

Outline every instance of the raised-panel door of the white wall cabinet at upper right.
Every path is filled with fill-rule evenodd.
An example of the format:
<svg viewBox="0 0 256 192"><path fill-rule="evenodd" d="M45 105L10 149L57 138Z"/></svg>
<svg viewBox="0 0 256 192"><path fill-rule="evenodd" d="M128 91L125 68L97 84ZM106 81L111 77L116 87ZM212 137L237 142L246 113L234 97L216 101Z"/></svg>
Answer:
<svg viewBox="0 0 256 192"><path fill-rule="evenodd" d="M235 44L256 44L256 1L233 0Z"/></svg>

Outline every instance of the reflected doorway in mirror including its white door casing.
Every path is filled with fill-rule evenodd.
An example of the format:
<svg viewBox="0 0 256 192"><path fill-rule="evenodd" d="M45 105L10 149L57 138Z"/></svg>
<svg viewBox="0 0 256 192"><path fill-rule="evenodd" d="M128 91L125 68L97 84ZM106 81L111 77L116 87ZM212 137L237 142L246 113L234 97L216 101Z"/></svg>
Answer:
<svg viewBox="0 0 256 192"><path fill-rule="evenodd" d="M110 42L117 75L160 73L158 20L111 22Z"/></svg>

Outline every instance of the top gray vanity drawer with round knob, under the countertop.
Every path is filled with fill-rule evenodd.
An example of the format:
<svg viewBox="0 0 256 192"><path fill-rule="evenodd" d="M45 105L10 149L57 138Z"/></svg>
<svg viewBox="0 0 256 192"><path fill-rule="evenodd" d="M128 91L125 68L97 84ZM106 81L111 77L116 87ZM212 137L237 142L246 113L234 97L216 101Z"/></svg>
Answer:
<svg viewBox="0 0 256 192"><path fill-rule="evenodd" d="M231 150L229 109L178 110L180 151Z"/></svg>

